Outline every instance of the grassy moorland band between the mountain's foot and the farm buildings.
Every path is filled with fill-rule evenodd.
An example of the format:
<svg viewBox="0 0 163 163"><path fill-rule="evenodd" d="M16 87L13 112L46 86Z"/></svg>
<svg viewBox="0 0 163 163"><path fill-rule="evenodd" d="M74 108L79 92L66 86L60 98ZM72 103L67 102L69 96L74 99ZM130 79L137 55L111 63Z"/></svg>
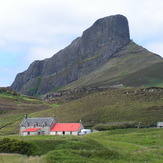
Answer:
<svg viewBox="0 0 163 163"><path fill-rule="evenodd" d="M62 97L61 97L62 98ZM66 97L65 97L66 98ZM55 99L54 99L55 101ZM108 89L56 104L11 94L0 94L0 134L18 134L24 115L57 116L59 122L79 122L93 127L99 123L142 122L141 127L163 121L163 89Z"/></svg>

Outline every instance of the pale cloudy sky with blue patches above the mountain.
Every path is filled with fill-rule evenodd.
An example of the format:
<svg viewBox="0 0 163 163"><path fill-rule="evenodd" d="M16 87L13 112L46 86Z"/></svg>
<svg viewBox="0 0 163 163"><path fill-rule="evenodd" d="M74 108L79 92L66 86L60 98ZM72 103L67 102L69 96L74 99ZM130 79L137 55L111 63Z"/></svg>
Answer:
<svg viewBox="0 0 163 163"><path fill-rule="evenodd" d="M0 86L115 14L127 17L133 41L163 56L163 0L0 0Z"/></svg>

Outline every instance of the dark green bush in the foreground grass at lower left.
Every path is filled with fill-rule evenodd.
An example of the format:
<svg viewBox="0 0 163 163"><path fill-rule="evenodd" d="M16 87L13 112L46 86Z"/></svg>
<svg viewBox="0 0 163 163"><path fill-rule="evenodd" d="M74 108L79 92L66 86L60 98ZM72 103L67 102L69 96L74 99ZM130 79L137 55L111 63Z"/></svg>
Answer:
<svg viewBox="0 0 163 163"><path fill-rule="evenodd" d="M19 153L25 155L33 155L37 150L37 146L30 142L5 138L0 140L1 153Z"/></svg>

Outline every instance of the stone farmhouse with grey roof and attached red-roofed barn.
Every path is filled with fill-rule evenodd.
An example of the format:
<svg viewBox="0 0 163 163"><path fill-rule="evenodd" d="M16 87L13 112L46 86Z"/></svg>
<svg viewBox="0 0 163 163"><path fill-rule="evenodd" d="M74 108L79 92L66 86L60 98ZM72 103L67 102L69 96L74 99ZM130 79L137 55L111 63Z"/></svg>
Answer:
<svg viewBox="0 0 163 163"><path fill-rule="evenodd" d="M20 124L20 135L79 135L81 123L57 123L55 117L28 118Z"/></svg>

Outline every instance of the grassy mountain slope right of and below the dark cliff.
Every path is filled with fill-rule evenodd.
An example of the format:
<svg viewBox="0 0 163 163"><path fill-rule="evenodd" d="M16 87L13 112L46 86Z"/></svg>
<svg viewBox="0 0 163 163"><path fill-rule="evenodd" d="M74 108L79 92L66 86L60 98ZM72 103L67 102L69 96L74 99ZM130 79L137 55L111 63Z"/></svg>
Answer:
<svg viewBox="0 0 163 163"><path fill-rule="evenodd" d="M62 89L116 84L124 84L124 86L143 86L144 82L140 83L138 80L142 77L139 77L139 71L141 71L145 83L148 83L146 81L152 81L154 79L158 80L157 83L150 82L150 86L152 86L152 84L154 84L153 86L162 86L162 80L160 80L160 78L162 79L162 66L159 67L155 64L162 61L162 58L158 55L147 51L131 41L119 52L115 53L106 64ZM155 65L151 66L153 64ZM146 73L149 67L150 76ZM157 72L157 76L154 74L155 72ZM126 82L128 78L132 80L130 80L130 83ZM145 78L147 79L145 80Z"/></svg>

